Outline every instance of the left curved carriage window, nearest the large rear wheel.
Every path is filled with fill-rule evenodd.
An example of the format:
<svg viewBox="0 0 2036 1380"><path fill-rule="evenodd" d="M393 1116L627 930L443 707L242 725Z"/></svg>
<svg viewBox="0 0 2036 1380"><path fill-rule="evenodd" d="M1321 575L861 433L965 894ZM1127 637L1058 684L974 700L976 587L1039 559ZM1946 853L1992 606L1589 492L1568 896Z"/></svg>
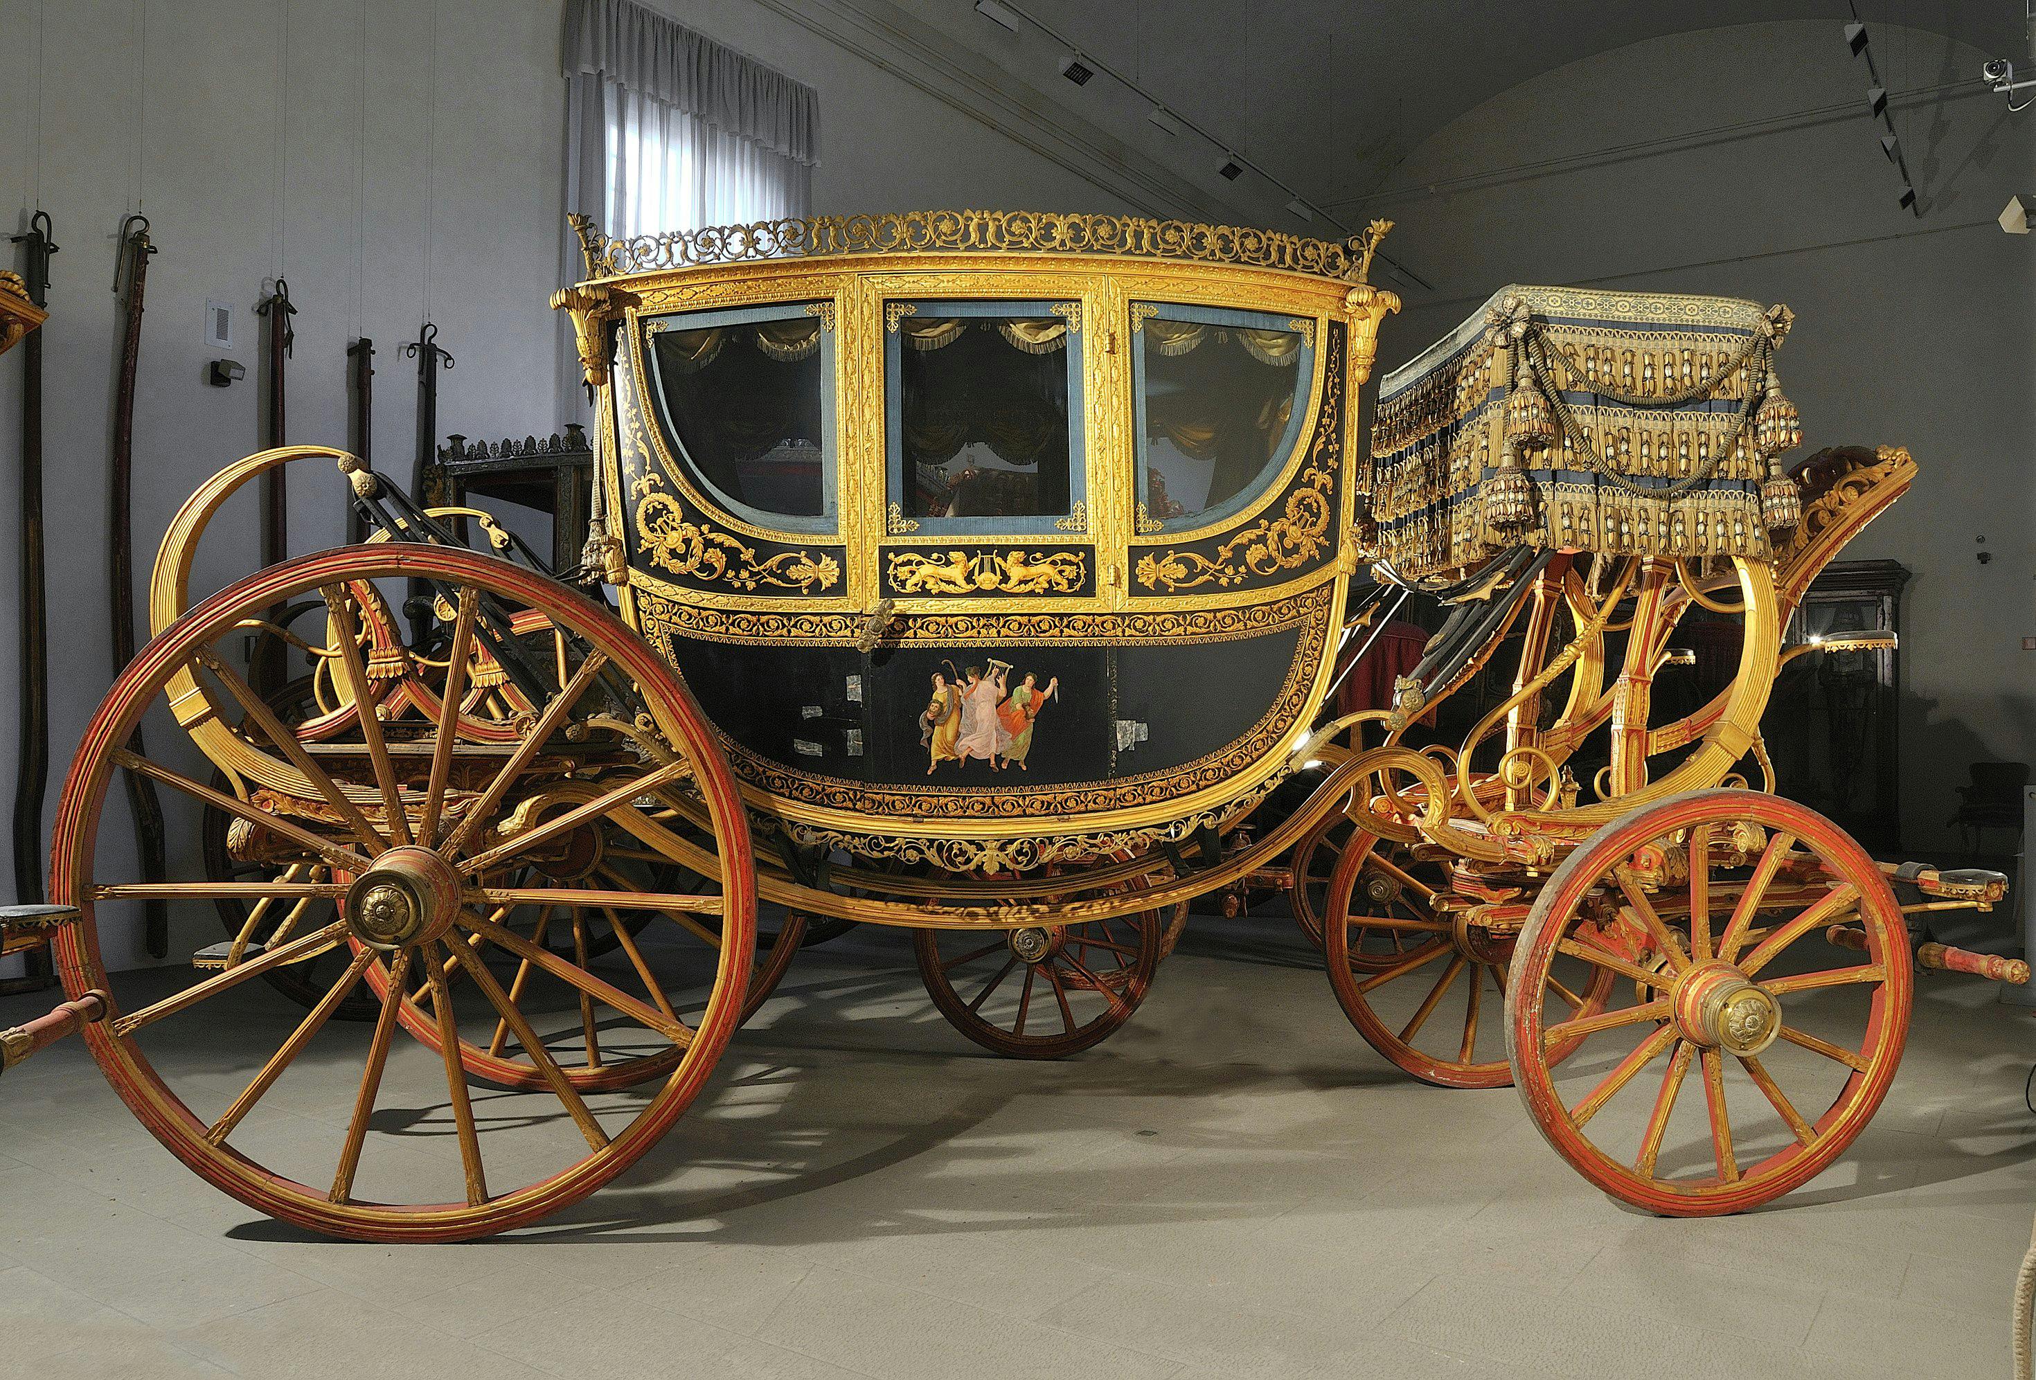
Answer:
<svg viewBox="0 0 2036 1380"><path fill-rule="evenodd" d="M686 476L733 513L831 527L833 332L806 303L645 326L658 411Z"/></svg>

